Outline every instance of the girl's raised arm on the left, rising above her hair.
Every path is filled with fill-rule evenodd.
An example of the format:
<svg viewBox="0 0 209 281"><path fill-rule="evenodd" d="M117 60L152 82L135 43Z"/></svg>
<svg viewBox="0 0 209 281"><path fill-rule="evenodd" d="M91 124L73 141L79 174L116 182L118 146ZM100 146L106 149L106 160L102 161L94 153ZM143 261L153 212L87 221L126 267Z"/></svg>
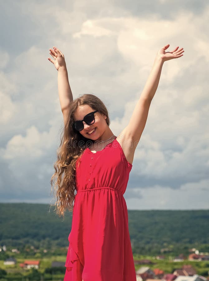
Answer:
<svg viewBox="0 0 209 281"><path fill-rule="evenodd" d="M68 116L69 104L73 101L73 94L70 88L68 71L63 53L56 47L50 50L50 55L54 58L52 60L48 57L48 60L55 65L58 71L58 94L61 110L63 113L64 124Z"/></svg>

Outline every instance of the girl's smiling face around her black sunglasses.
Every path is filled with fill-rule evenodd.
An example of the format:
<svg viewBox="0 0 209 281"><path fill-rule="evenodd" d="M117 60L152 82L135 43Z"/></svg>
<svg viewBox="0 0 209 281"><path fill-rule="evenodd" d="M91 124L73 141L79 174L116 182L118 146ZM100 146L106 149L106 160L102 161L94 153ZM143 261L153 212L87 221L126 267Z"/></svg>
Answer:
<svg viewBox="0 0 209 281"><path fill-rule="evenodd" d="M95 111L89 105L78 106L77 110L74 113L74 121L83 120L83 117L90 112ZM94 113L95 122L91 125L88 125L83 121L83 130L79 133L85 138L96 141L107 128L106 118L107 116L101 114L100 112ZM94 130L94 131L93 131ZM92 132L93 131L93 132ZM89 134L91 132L91 134Z"/></svg>

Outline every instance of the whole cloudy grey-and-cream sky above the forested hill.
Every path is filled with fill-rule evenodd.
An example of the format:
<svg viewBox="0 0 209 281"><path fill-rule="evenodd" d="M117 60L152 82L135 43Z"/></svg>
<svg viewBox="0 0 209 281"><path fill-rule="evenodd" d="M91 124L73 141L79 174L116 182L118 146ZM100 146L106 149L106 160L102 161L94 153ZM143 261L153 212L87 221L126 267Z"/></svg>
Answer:
<svg viewBox="0 0 209 281"><path fill-rule="evenodd" d="M63 127L57 71L65 55L74 98L106 104L117 136L128 124L157 51L164 63L135 150L128 209L209 209L208 1L6 1L0 23L0 202L50 203Z"/></svg>

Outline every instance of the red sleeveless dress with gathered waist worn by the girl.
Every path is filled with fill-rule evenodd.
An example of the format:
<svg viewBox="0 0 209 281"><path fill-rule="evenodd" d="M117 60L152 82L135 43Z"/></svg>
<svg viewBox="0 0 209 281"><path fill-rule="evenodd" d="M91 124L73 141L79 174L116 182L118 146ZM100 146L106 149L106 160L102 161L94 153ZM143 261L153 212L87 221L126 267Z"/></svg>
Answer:
<svg viewBox="0 0 209 281"><path fill-rule="evenodd" d="M78 158L64 281L136 281L123 197L131 168L116 139Z"/></svg>

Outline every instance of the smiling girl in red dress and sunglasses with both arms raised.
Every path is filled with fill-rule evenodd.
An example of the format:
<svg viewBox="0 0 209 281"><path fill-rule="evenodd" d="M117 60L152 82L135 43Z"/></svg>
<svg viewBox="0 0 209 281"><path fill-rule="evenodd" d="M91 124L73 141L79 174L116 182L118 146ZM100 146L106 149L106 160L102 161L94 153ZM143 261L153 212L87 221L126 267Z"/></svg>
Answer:
<svg viewBox="0 0 209 281"><path fill-rule="evenodd" d="M73 99L64 55L50 48L53 59L48 60L58 70L64 118L50 183L53 186L56 178L57 213L64 216L66 210L73 211L64 281L136 281L123 195L163 64L183 56L183 48L165 52L168 48L169 44L157 52L129 123L118 136L109 127L101 99L92 94Z"/></svg>

